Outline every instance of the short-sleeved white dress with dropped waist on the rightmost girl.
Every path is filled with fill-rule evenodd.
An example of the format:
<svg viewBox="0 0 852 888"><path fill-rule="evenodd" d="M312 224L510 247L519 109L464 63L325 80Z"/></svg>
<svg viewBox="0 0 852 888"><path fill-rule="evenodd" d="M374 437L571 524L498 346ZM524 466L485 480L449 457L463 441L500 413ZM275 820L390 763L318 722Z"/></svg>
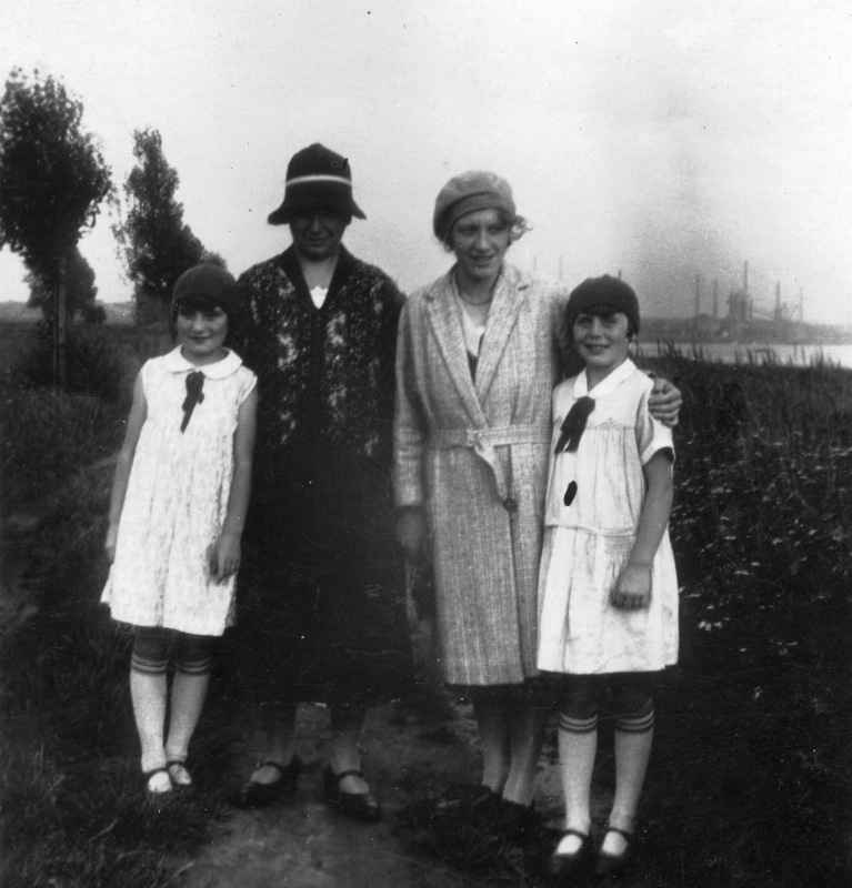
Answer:
<svg viewBox="0 0 852 888"><path fill-rule="evenodd" d="M630 557L644 503L642 466L670 448L671 430L648 412L653 383L631 361L588 392L585 371L553 390L553 440L539 577L540 669L594 675L662 669L678 662L678 577L668 528L652 568L648 608L624 610L610 593ZM575 453L553 455L571 405L594 398ZM565 506L568 485L575 498Z"/></svg>

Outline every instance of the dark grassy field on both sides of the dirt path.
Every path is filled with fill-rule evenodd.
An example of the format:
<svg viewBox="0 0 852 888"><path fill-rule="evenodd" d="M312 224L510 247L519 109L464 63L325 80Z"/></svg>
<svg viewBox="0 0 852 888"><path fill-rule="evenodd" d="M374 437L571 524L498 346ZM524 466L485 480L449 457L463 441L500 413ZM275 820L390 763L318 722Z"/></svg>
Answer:
<svg viewBox="0 0 852 888"><path fill-rule="evenodd" d="M215 790L159 814L139 805L128 642L97 605L109 455L120 442L132 360L116 343L87 349L80 361L90 367L76 377L74 395L52 395L32 376L0 381L3 517L33 503L47 516L34 533L3 537L4 555L14 549L29 565L34 596L3 603L7 888L176 884L180 860L221 811ZM685 398L671 523L682 647L658 699L642 854L630 884L845 885L852 372L676 354L658 369ZM225 704L212 704L227 702L228 686L222 675L215 682L198 755L211 787L229 756L219 729ZM605 735L602 747L598 776L610 785ZM554 755L552 738L547 754ZM459 841L470 834L435 816L445 791L435 785L403 814L412 847L475 884L543 884L542 847Z"/></svg>

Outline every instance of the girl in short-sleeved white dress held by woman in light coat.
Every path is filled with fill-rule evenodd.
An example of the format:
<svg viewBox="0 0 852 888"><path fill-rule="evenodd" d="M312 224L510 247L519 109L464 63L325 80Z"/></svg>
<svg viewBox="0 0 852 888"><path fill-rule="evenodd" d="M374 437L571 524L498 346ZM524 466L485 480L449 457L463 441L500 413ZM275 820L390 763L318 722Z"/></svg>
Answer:
<svg viewBox="0 0 852 888"><path fill-rule="evenodd" d="M628 359L639 331L633 290L604 275L565 309L585 362L553 391L553 441L539 598L540 669L564 675L559 750L565 831L555 876L590 859L590 795L599 704L615 723L615 797L595 870L615 876L630 854L653 736L653 685L678 659L678 581L666 526L671 431L648 412L653 383Z"/></svg>

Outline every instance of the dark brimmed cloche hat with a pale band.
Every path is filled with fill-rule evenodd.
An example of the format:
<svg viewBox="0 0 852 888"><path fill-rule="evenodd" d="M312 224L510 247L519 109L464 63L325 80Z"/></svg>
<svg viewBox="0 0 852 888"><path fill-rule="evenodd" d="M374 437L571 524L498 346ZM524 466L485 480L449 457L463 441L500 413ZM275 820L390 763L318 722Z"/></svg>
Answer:
<svg viewBox="0 0 852 888"><path fill-rule="evenodd" d="M267 221L270 225L285 225L295 210L317 206L367 219L352 199L349 161L319 142L297 151L290 159L283 203L269 214Z"/></svg>

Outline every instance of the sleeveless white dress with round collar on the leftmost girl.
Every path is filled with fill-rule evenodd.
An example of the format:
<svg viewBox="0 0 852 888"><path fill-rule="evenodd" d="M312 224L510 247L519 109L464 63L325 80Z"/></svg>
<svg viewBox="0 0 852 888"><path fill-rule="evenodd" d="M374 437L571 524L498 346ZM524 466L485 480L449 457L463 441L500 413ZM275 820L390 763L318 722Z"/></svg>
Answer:
<svg viewBox="0 0 852 888"><path fill-rule="evenodd" d="M194 370L203 401L181 432ZM233 352L197 367L179 347L140 375L148 413L101 601L123 623L221 635L233 623L235 578L215 582L210 554L228 512L238 411L257 377Z"/></svg>

